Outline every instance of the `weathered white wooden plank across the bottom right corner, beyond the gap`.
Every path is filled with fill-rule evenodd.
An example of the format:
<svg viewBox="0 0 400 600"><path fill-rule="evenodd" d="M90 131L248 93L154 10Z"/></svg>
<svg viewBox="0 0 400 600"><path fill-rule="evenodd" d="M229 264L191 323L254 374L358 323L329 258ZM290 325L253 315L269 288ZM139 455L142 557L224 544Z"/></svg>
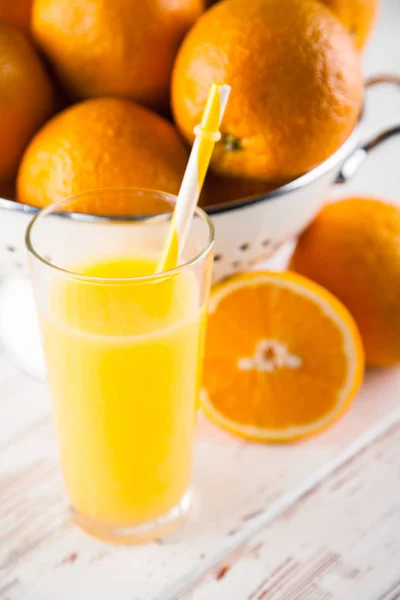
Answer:
<svg viewBox="0 0 400 600"><path fill-rule="evenodd" d="M399 598L399 447L397 424L180 600Z"/></svg>

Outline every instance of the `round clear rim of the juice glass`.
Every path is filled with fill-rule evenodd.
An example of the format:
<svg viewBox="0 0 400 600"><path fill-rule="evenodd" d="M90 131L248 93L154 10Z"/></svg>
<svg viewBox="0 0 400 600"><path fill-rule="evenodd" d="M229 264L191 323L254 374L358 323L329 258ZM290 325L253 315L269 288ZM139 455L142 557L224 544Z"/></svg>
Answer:
<svg viewBox="0 0 400 600"><path fill-rule="evenodd" d="M39 262L44 264L46 267L49 267L50 269L57 271L61 275L68 277L70 279L77 279L77 280L85 281L88 283L90 283L90 282L93 282L93 283L104 283L104 282L107 282L107 283L123 283L123 282L145 283L145 282L155 281L155 280L159 280L159 279L164 279L166 277L178 275L183 270L185 270L189 267L195 266L205 256L207 256L207 254L209 253L210 249L212 248L212 246L214 244L215 228L214 228L214 223L212 222L212 219L210 218L210 216L199 206L196 206L196 208L195 208L195 216L200 217L201 220L203 221L203 223L205 223L208 228L208 236L207 236L206 243L204 244L204 246L200 250L200 252L195 254L195 256L193 258L191 258L190 260L183 262L182 264L178 265L177 267L174 267L173 269L168 269L166 271L161 271L159 273L152 273L150 275L140 275L140 276L136 276L136 277L95 277L95 276L91 276L91 275L82 275L80 273L76 273L75 271L70 271L68 269L64 269L63 267L60 267L58 265L51 263L49 260L47 260L45 258L45 256L42 256L39 252L36 251L34 244L32 243L32 232L39 221L41 221L43 218L45 218L46 216L48 216L52 213L54 213L54 214L59 213L59 216L61 216L62 218L68 218L68 219L71 219L72 221L77 221L77 222L87 222L87 223L102 223L102 222L103 223L118 223L118 222L123 223L123 222L127 222L127 223L132 223L132 224L133 223L142 223L142 222L145 223L146 221L150 221L152 219L160 217L163 214L165 214L165 215L171 214L171 213L156 213L154 215L124 215L123 216L123 215L92 215L92 214L88 214L88 213L66 212L66 211L62 211L62 210L57 211L57 207L61 207L62 205L65 205L67 202L79 200L79 198L84 197L84 196L89 196L89 195L91 196L94 194L99 194L99 193L104 193L104 192L129 192L130 193L130 192L137 192L137 191L141 191L141 192L148 193L151 195L162 196L167 201L171 200L172 203L175 203L176 199L177 199L177 196L175 196L174 194L170 194L168 192L162 192L160 190L153 190L151 188L141 188L141 187L98 188L98 189L88 190L86 192L80 192L78 194L74 194L73 196L69 196L67 198L64 198L63 200L58 200L57 202L54 202L53 204L50 204L49 206L46 206L46 207L40 209L36 213L36 215L31 219L31 221L29 222L29 224L26 228L26 232L25 232L25 245L26 245L28 252L33 257L35 257Z"/></svg>

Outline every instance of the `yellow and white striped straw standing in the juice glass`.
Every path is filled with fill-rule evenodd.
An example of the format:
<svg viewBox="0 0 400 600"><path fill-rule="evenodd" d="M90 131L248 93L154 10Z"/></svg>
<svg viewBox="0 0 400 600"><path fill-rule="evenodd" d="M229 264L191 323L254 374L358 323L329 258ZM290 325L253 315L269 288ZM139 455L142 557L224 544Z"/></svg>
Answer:
<svg viewBox="0 0 400 600"><path fill-rule="evenodd" d="M178 265L179 255L186 242L214 145L221 139L219 128L230 91L229 85L212 84L201 124L194 128L196 137L157 272L173 269Z"/></svg>

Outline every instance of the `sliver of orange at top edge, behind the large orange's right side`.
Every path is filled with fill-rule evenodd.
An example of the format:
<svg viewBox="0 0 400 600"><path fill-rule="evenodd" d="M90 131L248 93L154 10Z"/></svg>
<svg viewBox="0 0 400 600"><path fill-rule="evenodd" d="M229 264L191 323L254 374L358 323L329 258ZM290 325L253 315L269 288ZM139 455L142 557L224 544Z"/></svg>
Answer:
<svg viewBox="0 0 400 600"><path fill-rule="evenodd" d="M357 48L362 48L376 20L379 0L320 0L350 31Z"/></svg>

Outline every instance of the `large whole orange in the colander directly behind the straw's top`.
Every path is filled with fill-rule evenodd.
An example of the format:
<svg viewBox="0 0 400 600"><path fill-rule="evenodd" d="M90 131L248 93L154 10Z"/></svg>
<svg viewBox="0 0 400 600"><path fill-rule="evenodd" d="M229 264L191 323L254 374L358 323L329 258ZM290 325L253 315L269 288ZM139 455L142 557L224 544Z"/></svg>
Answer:
<svg viewBox="0 0 400 600"><path fill-rule="evenodd" d="M200 17L172 79L188 140L213 81L232 86L212 161L220 174L292 179L337 150L360 114L359 57L317 0L224 0Z"/></svg>

